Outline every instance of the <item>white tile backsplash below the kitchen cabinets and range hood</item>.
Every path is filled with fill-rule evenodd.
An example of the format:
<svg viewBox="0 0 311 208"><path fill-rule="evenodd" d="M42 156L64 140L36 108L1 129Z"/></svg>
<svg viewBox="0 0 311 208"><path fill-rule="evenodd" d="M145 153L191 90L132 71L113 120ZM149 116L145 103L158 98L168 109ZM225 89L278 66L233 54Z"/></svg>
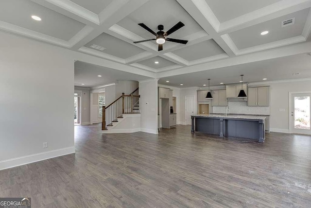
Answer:
<svg viewBox="0 0 311 208"><path fill-rule="evenodd" d="M229 101L231 114L270 115L269 106L247 106L246 101ZM225 106L213 106L213 113L225 113Z"/></svg>

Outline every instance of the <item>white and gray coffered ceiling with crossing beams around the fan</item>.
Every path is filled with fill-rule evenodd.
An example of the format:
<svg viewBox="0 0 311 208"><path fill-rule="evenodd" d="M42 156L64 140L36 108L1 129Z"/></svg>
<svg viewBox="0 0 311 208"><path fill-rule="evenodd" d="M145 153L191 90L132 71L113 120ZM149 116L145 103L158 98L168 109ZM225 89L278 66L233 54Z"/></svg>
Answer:
<svg viewBox="0 0 311 208"><path fill-rule="evenodd" d="M311 0L1 0L0 30L161 78L310 52L310 7ZM294 24L282 27L287 19ZM179 21L185 26L169 38L186 45L166 41L158 52L155 40L133 43L155 38L138 23L157 32Z"/></svg>

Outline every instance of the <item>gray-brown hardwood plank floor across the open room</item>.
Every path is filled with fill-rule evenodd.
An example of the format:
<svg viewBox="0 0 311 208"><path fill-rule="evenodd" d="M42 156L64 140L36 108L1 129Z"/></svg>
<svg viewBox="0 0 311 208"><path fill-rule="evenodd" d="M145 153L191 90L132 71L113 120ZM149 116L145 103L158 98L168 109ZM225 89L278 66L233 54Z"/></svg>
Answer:
<svg viewBox="0 0 311 208"><path fill-rule="evenodd" d="M1 170L0 197L32 197L33 208L311 207L311 136L74 128L75 154Z"/></svg>

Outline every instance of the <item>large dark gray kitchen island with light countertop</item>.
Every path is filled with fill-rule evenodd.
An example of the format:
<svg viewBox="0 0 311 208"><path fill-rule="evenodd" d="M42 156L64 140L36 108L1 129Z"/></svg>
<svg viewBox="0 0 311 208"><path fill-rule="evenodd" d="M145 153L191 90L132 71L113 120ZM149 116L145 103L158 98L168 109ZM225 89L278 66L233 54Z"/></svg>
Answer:
<svg viewBox="0 0 311 208"><path fill-rule="evenodd" d="M262 116L192 115L191 132L233 136L264 142L265 129Z"/></svg>

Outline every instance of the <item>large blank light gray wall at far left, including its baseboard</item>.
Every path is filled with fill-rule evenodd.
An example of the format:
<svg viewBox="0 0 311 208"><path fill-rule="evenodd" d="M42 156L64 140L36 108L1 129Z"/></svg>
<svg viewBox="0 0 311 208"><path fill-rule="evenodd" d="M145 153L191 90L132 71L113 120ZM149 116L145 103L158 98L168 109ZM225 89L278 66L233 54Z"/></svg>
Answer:
<svg viewBox="0 0 311 208"><path fill-rule="evenodd" d="M0 40L0 170L74 152L74 58L6 33Z"/></svg>

